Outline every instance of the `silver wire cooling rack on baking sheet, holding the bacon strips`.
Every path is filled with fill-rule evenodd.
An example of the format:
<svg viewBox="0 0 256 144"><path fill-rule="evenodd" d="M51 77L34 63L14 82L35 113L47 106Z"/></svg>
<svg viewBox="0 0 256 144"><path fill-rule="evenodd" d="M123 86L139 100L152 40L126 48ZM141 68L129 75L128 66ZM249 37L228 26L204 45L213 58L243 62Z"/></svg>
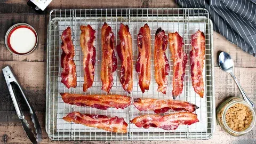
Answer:
<svg viewBox="0 0 256 144"><path fill-rule="evenodd" d="M115 47L119 43L118 30L120 23L129 26L133 38L133 63L138 56L137 34L140 27L148 23L151 30L151 82L149 91L142 94L138 85L138 74L134 73L133 91L128 94L122 89L119 82L119 73L121 62L118 60L118 68L114 73L114 85L110 94L129 95L134 98L156 98L172 99L172 75L173 62L169 46L166 50L167 58L170 64L170 73L167 76L169 87L166 95L157 92L157 84L154 78L154 41L155 33L158 27L165 30L165 34L178 33L183 37L184 50L187 54L191 50L191 35L198 29L204 32L206 41L205 65L203 70L204 98L200 98L194 92L190 77L190 60L186 65L186 75L182 94L177 100L184 100L200 108L195 111L198 115L199 122L193 125L180 125L177 130L166 131L159 128L151 127L143 129L130 123L134 117L144 114L154 114L153 111L138 111L134 106L125 109L109 108L108 110L99 110L91 107L77 107L64 103L59 93L82 93L82 94L107 94L101 91L101 27L107 22L115 34ZM81 25L90 24L96 30L96 62L95 77L93 86L83 92L84 73L83 73L83 53L79 45ZM62 68L60 67L61 50L61 33L68 26L72 30L73 44L75 46L75 64L77 71L77 87L67 89L60 80ZM52 10L50 12L50 21L47 34L47 88L46 88L46 132L51 140L191 140L191 139L209 139L212 137L215 127L215 100L214 100L214 71L213 71L213 30L212 22L209 19L209 13L205 9L79 9L79 10ZM81 124L68 123L63 121L62 117L72 111L80 113L107 115L110 117L123 117L129 124L127 133L112 133L104 130L87 127ZM170 110L163 115L177 113Z"/></svg>

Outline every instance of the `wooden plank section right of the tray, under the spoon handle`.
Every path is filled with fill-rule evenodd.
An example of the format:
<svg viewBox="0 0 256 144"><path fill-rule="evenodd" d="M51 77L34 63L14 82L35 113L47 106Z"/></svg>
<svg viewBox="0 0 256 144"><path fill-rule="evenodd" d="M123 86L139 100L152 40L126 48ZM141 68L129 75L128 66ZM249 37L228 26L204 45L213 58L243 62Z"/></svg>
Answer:
<svg viewBox="0 0 256 144"><path fill-rule="evenodd" d="M227 97L242 97L234 79L230 74L222 71L220 67L214 67L215 101L216 106ZM247 96L256 103L256 68L234 68L234 75L242 85Z"/></svg>

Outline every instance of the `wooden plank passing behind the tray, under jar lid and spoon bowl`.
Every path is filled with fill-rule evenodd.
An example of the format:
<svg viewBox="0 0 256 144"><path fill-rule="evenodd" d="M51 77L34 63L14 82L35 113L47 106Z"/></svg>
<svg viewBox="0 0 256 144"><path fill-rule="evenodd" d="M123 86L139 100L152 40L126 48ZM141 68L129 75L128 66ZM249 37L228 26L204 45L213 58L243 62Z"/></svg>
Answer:
<svg viewBox="0 0 256 144"><path fill-rule="evenodd" d="M1 14L0 25L0 60L4 61L39 61L46 62L46 34L47 34L47 21L45 15L37 14ZM14 55L6 49L4 37L6 31L15 23L25 22L33 26L38 33L39 43L37 49L28 55ZM243 52L235 44L226 40L225 37L214 31L213 33L213 47L214 47L214 65L218 65L218 51L228 52L234 60L235 67L256 67L256 59L251 55Z"/></svg>

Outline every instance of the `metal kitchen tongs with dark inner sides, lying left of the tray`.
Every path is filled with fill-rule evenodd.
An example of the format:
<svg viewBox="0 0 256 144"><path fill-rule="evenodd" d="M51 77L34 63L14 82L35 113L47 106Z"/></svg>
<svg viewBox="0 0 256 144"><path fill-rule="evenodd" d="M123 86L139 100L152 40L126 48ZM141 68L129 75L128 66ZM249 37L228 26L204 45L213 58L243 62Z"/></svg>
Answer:
<svg viewBox="0 0 256 144"><path fill-rule="evenodd" d="M41 126L38 122L38 118L36 116L36 113L35 113L33 107L29 104L29 101L26 98L25 94L23 93L20 84L18 83L17 79L13 75L11 67L7 66L7 67L3 68L2 70L3 70L3 73L4 73L5 81L7 83L8 89L9 89L10 94L11 94L11 98L12 98L15 110L16 110L17 115L20 119L20 122L23 126L23 129L25 130L29 140L32 143L40 142L42 140L42 138L41 138L42 137L42 129L41 129ZM31 120L32 120L32 122L34 123L34 126L35 126L36 137L35 137L35 134L33 133L33 131L30 129L30 126L29 126L27 120L25 119L25 116L22 113L22 110L20 108L20 104L17 101L17 96L15 95L15 92L14 92L14 88L13 88L14 85L18 86L18 88L19 88L19 90L22 94L22 99L25 101L27 107L29 108L29 113L31 115Z"/></svg>

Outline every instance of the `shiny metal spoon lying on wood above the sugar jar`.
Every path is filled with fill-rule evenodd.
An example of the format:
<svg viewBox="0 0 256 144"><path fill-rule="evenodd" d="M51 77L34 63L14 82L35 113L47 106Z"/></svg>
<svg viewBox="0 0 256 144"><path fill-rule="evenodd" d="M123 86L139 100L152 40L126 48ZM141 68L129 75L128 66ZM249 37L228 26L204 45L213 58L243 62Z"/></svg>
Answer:
<svg viewBox="0 0 256 144"><path fill-rule="evenodd" d="M226 52L221 52L219 55L219 65L220 68L223 71L226 71L227 73L229 73L235 80L239 90L241 91L244 100L249 103L250 106L252 106L254 108L254 105L252 103L252 101L247 97L245 91L243 90L242 86L239 84L239 82L237 81L236 77L233 74L233 67L234 67L234 62L232 60L232 58L230 57L230 55Z"/></svg>

